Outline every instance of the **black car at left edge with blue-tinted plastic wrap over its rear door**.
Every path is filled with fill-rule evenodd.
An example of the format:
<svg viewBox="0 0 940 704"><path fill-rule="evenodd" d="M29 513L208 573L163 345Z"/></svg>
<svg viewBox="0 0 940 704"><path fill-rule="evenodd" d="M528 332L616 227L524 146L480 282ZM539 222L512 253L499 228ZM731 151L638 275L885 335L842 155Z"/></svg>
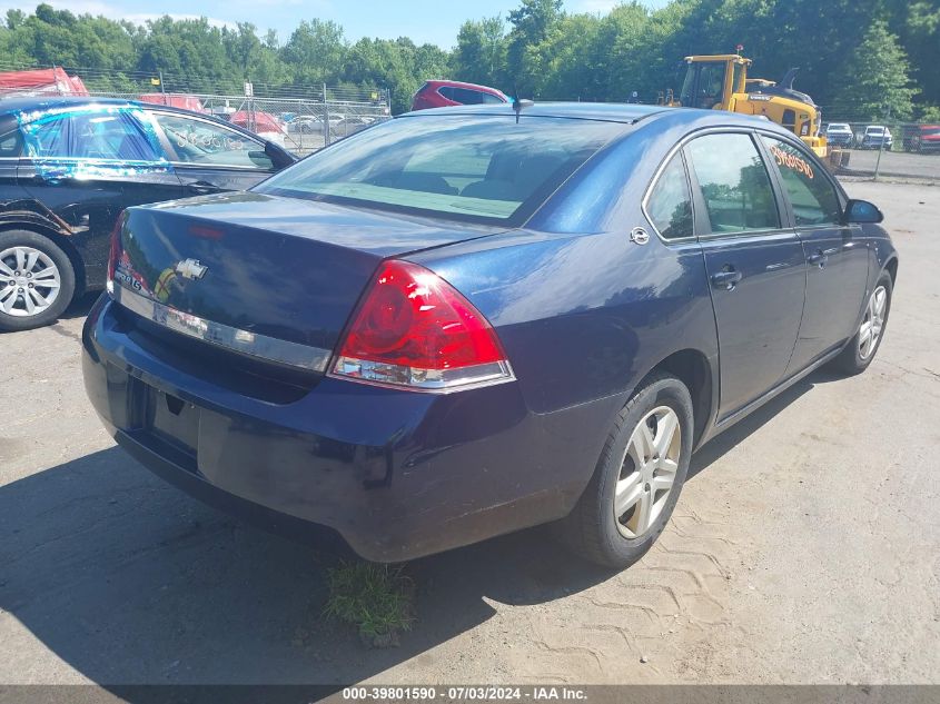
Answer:
<svg viewBox="0 0 940 704"><path fill-rule="evenodd" d="M105 286L128 206L241 190L293 163L208 115L99 98L0 103L0 330L56 320Z"/></svg>

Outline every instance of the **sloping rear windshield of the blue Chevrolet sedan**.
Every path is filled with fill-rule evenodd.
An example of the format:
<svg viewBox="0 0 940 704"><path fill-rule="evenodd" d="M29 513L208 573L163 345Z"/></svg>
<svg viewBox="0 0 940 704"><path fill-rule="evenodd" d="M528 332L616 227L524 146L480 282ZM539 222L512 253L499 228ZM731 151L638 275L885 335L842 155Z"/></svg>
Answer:
<svg viewBox="0 0 940 704"><path fill-rule="evenodd" d="M255 190L456 220L516 225L607 141L619 122L406 117L337 142Z"/></svg>

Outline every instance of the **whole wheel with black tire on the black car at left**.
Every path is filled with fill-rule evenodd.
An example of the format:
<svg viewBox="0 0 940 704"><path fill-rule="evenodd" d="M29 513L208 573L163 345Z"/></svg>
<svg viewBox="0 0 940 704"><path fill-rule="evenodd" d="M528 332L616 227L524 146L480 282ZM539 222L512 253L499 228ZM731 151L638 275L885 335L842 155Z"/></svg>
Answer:
<svg viewBox="0 0 940 704"><path fill-rule="evenodd" d="M75 269L52 240L29 230L0 232L0 330L53 323L75 295Z"/></svg>

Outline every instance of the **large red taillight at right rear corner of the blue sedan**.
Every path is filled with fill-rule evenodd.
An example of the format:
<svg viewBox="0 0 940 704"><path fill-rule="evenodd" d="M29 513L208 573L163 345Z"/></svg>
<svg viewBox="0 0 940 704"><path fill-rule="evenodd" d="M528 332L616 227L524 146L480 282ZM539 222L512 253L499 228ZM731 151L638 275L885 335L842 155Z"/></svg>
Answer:
<svg viewBox="0 0 940 704"><path fill-rule="evenodd" d="M407 261L378 270L333 374L426 390L514 378L486 318L447 281Z"/></svg>

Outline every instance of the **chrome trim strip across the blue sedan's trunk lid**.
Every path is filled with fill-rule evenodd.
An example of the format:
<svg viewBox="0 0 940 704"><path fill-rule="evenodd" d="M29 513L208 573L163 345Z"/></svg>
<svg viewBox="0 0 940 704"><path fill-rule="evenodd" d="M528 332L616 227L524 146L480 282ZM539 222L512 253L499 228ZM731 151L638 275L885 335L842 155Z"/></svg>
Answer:
<svg viewBox="0 0 940 704"><path fill-rule="evenodd" d="M333 356L329 349L241 330L177 310L132 291L117 281L113 282L112 289L110 295L116 303L157 325L249 357L310 371L324 371Z"/></svg>

